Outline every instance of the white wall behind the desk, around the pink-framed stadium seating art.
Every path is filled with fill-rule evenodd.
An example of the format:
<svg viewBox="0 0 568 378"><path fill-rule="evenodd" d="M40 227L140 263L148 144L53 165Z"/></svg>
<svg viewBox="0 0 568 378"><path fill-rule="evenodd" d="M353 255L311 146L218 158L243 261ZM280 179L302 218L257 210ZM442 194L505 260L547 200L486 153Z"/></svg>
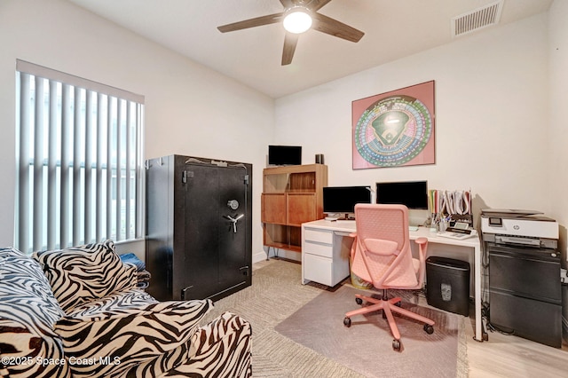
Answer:
<svg viewBox="0 0 568 378"><path fill-rule="evenodd" d="M431 189L471 189L476 215L549 212L547 31L542 14L279 98L275 138L304 146L304 163L325 154L329 185L426 179ZM351 101L430 80L436 164L351 169Z"/></svg>

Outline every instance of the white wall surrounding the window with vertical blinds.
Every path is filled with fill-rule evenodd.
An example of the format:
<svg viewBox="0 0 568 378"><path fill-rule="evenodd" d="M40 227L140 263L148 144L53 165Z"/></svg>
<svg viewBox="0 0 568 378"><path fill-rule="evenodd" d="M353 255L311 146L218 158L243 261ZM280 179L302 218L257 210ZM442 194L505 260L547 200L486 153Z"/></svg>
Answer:
<svg viewBox="0 0 568 378"><path fill-rule="evenodd" d="M0 46L1 246L13 243L15 62L24 59L146 96L146 158L186 154L252 163L253 254L262 252L272 98L61 0L1 0Z"/></svg>

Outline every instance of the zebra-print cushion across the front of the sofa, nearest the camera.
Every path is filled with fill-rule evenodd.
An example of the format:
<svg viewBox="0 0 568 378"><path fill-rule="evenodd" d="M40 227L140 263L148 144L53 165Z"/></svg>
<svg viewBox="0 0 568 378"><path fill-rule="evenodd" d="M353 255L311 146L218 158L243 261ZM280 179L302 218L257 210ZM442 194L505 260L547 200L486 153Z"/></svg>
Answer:
<svg viewBox="0 0 568 378"><path fill-rule="evenodd" d="M90 315L67 315L57 322L55 331L67 359L85 361L71 365L74 376L125 374L154 359L160 361L148 364L154 374L145 375L156 376L186 362L190 339L212 308L209 299L115 307Z"/></svg>

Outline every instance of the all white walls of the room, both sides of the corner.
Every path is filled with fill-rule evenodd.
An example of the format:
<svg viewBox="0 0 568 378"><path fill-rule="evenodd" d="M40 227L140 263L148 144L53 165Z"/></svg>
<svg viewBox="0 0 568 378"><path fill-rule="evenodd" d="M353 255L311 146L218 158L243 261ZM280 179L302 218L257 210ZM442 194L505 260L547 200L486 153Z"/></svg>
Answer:
<svg viewBox="0 0 568 378"><path fill-rule="evenodd" d="M568 224L566 6L555 1L549 28L543 14L274 103L73 4L0 0L0 245L13 240L16 59L145 95L147 158L191 154L253 163L256 260L271 143L304 146L304 163L325 154L329 185L428 179L431 188L470 188L477 212L539 209ZM430 80L436 81L436 164L352 170L351 101Z"/></svg>

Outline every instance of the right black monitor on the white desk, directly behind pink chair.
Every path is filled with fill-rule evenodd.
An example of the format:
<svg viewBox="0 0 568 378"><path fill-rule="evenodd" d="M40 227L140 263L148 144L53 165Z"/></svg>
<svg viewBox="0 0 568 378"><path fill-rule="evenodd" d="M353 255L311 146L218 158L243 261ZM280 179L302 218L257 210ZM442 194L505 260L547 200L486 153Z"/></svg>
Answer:
<svg viewBox="0 0 568 378"><path fill-rule="evenodd" d="M428 182L376 183L376 203L405 205L408 209L428 209Z"/></svg>

